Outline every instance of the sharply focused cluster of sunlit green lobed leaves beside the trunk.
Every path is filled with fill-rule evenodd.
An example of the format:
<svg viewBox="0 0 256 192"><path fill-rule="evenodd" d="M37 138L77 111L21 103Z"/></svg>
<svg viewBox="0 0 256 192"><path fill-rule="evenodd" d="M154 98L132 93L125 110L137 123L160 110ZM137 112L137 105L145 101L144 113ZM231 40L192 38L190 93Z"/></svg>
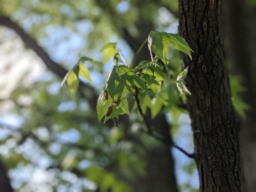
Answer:
<svg viewBox="0 0 256 192"><path fill-rule="evenodd" d="M178 75L169 69L168 53L170 44L191 58L192 49L187 42L177 34L151 31L148 35L148 48L151 61L141 61L138 66L131 69L125 61L121 60L116 43L111 43L102 48L104 57L102 63L113 58L113 68L109 73L105 90L97 102L98 120L105 116L105 120L113 119L118 124L118 116L129 114L127 94L138 97L142 112L147 107L151 109L154 118L165 106L170 109L177 103L186 102L185 94L190 94L185 86L185 77L188 68ZM153 58L153 53L155 57ZM86 59L89 60L89 59ZM84 67L81 59L72 68L63 80L67 83L72 95L78 88L78 76L81 75L90 82L89 71ZM135 103L134 108L138 103Z"/></svg>

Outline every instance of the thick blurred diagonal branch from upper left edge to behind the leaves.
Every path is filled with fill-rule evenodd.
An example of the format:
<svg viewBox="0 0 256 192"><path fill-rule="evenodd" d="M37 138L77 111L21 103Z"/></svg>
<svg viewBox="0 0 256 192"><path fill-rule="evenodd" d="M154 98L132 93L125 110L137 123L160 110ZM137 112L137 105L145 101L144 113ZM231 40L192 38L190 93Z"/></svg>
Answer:
<svg viewBox="0 0 256 192"><path fill-rule="evenodd" d="M44 49L39 46L33 38L26 34L23 29L20 28L9 17L0 16L0 25L13 29L19 35L19 37L27 44L27 46L29 46L31 49L34 50L35 53L37 53L42 61L44 61L48 69L50 69L60 78L64 78L68 71L65 68L61 67L59 64L55 63L52 59L50 59L49 55L44 51ZM80 82L78 90L82 97L88 99L91 108L96 110L98 94L95 92L94 88ZM86 90L86 93L90 94L84 94L83 90Z"/></svg>

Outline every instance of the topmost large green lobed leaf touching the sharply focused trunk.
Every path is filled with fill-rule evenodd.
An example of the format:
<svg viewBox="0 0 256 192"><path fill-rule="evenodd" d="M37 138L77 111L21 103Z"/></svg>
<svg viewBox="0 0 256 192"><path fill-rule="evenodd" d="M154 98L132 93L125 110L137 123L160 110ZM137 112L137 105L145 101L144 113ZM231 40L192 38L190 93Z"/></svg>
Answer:
<svg viewBox="0 0 256 192"><path fill-rule="evenodd" d="M191 51L193 52L193 50L180 35L158 31L151 31L148 35L150 53L152 49L155 55L165 64L168 64L167 56L170 44L172 44L175 49L186 53L190 58L192 58ZM153 60L152 54L151 59Z"/></svg>

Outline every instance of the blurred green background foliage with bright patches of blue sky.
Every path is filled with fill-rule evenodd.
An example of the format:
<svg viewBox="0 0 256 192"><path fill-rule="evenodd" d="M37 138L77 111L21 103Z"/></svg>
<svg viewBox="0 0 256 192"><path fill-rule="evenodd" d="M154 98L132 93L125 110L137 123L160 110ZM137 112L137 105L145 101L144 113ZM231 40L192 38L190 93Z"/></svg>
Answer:
<svg viewBox="0 0 256 192"><path fill-rule="evenodd" d="M101 64L101 48L117 42L128 65L138 64L135 53L151 30L178 32L177 9L175 0L0 0L0 15L10 17L63 68L72 68L81 56L99 61L84 63L98 95L112 68L111 61ZM150 58L148 50L140 54ZM169 57L181 71L178 51L170 48ZM147 151L161 144L139 131L143 122L137 111L129 125L98 123L92 103L81 93L72 100L67 86L60 89L62 79L4 26L0 58L0 158L16 191L129 192L133 180L147 175ZM165 116L174 142L192 152L188 115L173 107ZM180 191L198 191L194 161L171 150Z"/></svg>

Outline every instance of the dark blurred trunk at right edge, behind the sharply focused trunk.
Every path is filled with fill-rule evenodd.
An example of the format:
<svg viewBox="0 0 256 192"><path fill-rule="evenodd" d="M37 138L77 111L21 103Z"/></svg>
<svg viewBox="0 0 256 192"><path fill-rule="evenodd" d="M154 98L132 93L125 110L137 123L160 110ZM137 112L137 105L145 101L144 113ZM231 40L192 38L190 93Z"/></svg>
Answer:
<svg viewBox="0 0 256 192"><path fill-rule="evenodd" d="M256 7L249 7L247 1L228 0L225 16L228 27L229 57L233 73L244 76L242 100L250 105L241 125L241 154L249 192L256 189Z"/></svg>

